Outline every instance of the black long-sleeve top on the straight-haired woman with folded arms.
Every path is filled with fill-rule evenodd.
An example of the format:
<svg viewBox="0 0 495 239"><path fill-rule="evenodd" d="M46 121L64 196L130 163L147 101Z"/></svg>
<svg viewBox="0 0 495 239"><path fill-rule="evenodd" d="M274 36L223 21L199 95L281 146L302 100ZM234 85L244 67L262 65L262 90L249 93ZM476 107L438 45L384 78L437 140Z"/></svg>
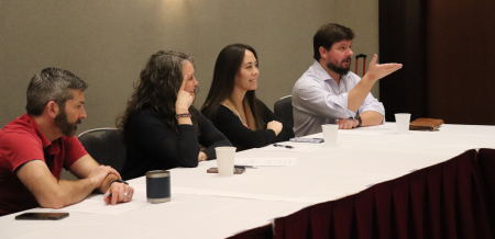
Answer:
<svg viewBox="0 0 495 239"><path fill-rule="evenodd" d="M224 105L218 106L215 118L211 122L213 122L215 127L229 138L238 151L260 148L277 141L287 141L294 137L293 128L274 114L263 102L262 112L262 117L265 123L277 121L283 124L283 128L278 135L275 135L275 132L272 129L251 130Z"/></svg>

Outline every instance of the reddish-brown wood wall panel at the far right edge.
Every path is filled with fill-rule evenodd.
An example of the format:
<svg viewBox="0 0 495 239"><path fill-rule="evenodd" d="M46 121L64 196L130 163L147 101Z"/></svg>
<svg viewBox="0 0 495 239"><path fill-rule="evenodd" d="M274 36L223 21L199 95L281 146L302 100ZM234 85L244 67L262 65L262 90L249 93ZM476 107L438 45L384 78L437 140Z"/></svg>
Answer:
<svg viewBox="0 0 495 239"><path fill-rule="evenodd" d="M430 0L428 114L495 124L495 1Z"/></svg>

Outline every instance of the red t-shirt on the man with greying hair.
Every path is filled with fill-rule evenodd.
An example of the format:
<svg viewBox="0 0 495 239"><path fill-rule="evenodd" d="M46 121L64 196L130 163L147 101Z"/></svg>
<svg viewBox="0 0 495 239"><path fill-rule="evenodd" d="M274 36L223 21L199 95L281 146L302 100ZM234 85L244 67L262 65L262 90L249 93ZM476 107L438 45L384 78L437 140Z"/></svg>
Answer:
<svg viewBox="0 0 495 239"><path fill-rule="evenodd" d="M50 141L29 114L7 124L0 129L0 216L40 206L16 177L21 166L43 160L58 180L62 167L68 169L87 153L75 136Z"/></svg>

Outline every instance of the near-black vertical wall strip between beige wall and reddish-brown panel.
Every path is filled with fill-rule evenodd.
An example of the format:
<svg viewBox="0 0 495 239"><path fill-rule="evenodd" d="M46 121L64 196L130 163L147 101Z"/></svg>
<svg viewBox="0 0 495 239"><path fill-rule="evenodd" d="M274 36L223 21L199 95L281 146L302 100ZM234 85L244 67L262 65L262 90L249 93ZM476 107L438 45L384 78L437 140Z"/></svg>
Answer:
<svg viewBox="0 0 495 239"><path fill-rule="evenodd" d="M428 116L426 7L426 0L378 2L378 60L404 65L380 81L387 121L395 121L395 113L411 113L411 120Z"/></svg>

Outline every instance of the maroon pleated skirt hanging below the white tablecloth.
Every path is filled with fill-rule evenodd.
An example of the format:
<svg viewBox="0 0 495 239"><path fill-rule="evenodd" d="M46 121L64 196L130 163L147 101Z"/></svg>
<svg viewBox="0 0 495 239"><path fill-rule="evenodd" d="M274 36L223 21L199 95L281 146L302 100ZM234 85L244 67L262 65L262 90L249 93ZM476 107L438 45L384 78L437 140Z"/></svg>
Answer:
<svg viewBox="0 0 495 239"><path fill-rule="evenodd" d="M230 238L485 239L493 230L495 149L472 149Z"/></svg>

